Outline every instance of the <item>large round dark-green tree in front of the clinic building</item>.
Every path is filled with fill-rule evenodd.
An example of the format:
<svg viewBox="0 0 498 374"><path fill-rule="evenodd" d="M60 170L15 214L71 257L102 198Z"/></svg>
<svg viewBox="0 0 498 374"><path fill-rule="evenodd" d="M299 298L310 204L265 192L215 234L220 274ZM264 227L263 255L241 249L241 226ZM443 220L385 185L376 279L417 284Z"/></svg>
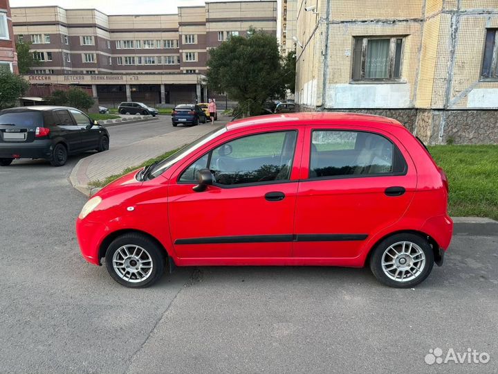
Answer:
<svg viewBox="0 0 498 374"><path fill-rule="evenodd" d="M277 38L250 30L249 37L232 36L210 49L208 87L239 102L243 112L259 114L264 102L282 97L285 82Z"/></svg>

